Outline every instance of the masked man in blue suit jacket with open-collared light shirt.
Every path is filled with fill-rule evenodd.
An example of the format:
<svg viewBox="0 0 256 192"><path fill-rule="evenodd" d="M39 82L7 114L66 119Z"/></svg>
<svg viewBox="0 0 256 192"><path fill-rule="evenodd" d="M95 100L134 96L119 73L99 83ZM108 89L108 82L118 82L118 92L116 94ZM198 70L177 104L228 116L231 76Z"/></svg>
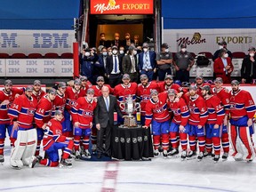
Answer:
<svg viewBox="0 0 256 192"><path fill-rule="evenodd" d="M152 81L153 75L156 72L156 52L149 51L149 45L143 44L143 52L139 54L139 69L140 75L146 74L148 81Z"/></svg>

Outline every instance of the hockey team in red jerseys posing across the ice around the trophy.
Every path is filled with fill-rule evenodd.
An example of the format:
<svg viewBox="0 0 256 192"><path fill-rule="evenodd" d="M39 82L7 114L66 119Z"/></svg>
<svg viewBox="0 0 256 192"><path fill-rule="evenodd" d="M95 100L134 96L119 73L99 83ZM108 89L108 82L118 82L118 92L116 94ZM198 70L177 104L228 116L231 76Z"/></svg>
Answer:
<svg viewBox="0 0 256 192"><path fill-rule="evenodd" d="M103 76L98 76L96 85L80 76L44 92L39 80L25 88L12 87L12 81L6 80L0 91L0 163L4 163L6 131L12 147L10 164L16 169L36 164L72 166L72 157L91 158L89 143L92 152L101 148L93 119L97 98L105 97L102 89L116 96L118 106L131 96L140 101L138 123L152 133L154 156L180 155L182 160L198 161L209 156L217 163L220 157L228 159L230 142L234 149L230 155L236 161L253 160L256 107L250 92L241 90L238 81L231 82L231 91L223 87L220 77L209 84L203 76L196 76L195 83L186 87L175 84L170 75L162 82L149 82L143 74L136 84L124 74L122 81L112 88ZM122 114L125 116L124 110ZM118 123L122 121L118 116ZM44 156L39 156L40 146Z"/></svg>

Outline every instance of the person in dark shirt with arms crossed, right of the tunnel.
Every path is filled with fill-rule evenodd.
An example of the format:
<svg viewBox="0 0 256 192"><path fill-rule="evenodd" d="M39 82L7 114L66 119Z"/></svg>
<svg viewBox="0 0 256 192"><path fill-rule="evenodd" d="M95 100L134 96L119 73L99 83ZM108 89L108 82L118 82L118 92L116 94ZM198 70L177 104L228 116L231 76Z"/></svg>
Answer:
<svg viewBox="0 0 256 192"><path fill-rule="evenodd" d="M169 52L168 44L161 45L161 52L156 54L156 64L158 67L158 80L164 81L164 76L172 75L172 52Z"/></svg>

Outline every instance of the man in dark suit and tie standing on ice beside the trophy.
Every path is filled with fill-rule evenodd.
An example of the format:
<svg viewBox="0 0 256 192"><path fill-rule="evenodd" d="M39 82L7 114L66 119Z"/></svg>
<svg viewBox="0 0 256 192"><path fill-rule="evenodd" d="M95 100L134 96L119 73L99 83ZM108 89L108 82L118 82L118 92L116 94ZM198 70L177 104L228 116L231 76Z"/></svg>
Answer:
<svg viewBox="0 0 256 192"><path fill-rule="evenodd" d="M122 116L121 110L117 105L116 97L109 95L107 86L101 89L102 96L98 97L97 107L94 110L94 120L97 128L97 153L98 158L104 153L111 156L111 131L114 126L114 112ZM103 148L103 135L106 134L105 150Z"/></svg>

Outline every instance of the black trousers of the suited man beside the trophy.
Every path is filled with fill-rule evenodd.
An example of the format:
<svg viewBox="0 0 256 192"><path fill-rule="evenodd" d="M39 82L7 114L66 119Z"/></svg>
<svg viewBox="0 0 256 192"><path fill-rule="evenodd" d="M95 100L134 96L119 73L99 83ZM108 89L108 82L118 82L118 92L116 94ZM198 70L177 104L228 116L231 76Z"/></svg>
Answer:
<svg viewBox="0 0 256 192"><path fill-rule="evenodd" d="M109 122L107 127L100 127L100 130L97 130L97 152L98 154L106 154L111 156L111 130ZM106 134L105 140L105 149L103 148L103 136Z"/></svg>

